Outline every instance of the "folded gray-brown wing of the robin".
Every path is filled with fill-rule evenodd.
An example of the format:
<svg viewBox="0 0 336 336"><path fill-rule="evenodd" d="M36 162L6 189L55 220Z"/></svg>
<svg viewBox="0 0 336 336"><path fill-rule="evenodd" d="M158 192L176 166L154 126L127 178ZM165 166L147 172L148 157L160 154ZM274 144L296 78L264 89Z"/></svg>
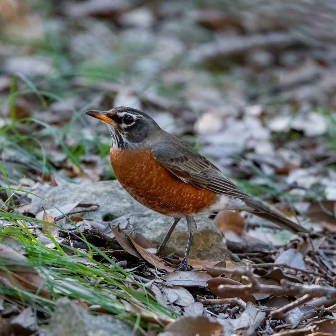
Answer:
<svg viewBox="0 0 336 336"><path fill-rule="evenodd" d="M152 156L169 171L200 189L241 199L250 198L204 156L175 136L170 136L169 141L157 143L151 151Z"/></svg>

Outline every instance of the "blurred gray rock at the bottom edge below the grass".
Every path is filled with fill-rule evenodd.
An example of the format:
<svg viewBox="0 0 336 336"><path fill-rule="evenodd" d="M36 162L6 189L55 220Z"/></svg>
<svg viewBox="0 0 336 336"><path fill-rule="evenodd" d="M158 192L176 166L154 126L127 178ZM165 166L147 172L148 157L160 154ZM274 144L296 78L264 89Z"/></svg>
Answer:
<svg viewBox="0 0 336 336"><path fill-rule="evenodd" d="M55 311L50 319L48 336L129 336L140 335L125 320L112 315L92 315L87 309L67 297L57 300ZM112 332L113 331L113 332Z"/></svg>

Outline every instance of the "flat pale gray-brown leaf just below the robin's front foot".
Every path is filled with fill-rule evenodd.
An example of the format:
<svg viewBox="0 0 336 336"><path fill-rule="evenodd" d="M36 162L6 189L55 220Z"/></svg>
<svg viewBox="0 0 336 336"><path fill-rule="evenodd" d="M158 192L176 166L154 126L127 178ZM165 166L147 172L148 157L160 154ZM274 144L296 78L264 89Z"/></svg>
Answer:
<svg viewBox="0 0 336 336"><path fill-rule="evenodd" d="M170 285L179 285L183 287L206 287L207 281L212 279L211 275L200 271L177 271L161 276L163 280Z"/></svg>

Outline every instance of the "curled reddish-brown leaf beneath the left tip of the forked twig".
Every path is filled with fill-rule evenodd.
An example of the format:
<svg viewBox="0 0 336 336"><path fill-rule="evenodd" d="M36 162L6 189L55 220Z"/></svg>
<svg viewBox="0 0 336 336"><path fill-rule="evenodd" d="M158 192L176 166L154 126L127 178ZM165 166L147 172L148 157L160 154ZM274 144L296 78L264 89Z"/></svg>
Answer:
<svg viewBox="0 0 336 336"><path fill-rule="evenodd" d="M211 278L207 281L208 288L211 290L213 294L221 298L229 298L229 297L240 297L244 301L255 302L255 299L248 290L243 289L237 291L227 291L226 289L218 288L219 285L237 285L242 286L242 284L238 281L228 279L228 278Z"/></svg>

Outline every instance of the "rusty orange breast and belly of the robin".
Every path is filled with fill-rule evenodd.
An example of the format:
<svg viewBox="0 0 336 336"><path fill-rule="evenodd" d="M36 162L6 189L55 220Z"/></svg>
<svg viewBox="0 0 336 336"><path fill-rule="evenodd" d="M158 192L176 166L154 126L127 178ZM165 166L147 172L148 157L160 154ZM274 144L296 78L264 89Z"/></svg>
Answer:
<svg viewBox="0 0 336 336"><path fill-rule="evenodd" d="M215 193L183 182L157 162L150 149L110 152L112 168L125 190L162 214L192 214L208 207Z"/></svg>

